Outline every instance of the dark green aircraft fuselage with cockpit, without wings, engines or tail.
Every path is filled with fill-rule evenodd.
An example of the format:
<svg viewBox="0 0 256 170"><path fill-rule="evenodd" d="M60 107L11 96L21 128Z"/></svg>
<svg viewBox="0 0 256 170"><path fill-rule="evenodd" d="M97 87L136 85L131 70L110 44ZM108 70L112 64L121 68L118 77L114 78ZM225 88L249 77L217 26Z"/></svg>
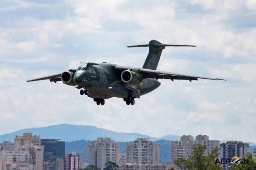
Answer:
<svg viewBox="0 0 256 170"><path fill-rule="evenodd" d="M116 71L116 65L108 63L88 63L79 66L73 81L79 87L86 88L92 98L109 99L111 97L127 98L129 92L139 91L137 98L160 86L156 79L143 79L141 85L126 84L121 79L122 72ZM74 85L74 84L72 84ZM135 94L136 95L136 92Z"/></svg>

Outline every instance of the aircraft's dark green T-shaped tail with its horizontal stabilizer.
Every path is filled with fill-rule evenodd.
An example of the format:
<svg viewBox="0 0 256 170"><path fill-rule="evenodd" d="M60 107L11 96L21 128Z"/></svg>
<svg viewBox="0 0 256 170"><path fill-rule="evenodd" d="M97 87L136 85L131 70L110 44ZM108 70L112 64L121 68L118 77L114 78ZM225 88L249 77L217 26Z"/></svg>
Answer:
<svg viewBox="0 0 256 170"><path fill-rule="evenodd" d="M161 42L158 42L157 40L151 40L149 42L149 44L145 44L145 45L132 45L132 46L127 46L127 47L149 47L148 56L147 56L142 68L156 70L158 62L159 62L161 54L162 54L162 50L167 46L172 46L172 47L196 47L195 45L162 44Z"/></svg>

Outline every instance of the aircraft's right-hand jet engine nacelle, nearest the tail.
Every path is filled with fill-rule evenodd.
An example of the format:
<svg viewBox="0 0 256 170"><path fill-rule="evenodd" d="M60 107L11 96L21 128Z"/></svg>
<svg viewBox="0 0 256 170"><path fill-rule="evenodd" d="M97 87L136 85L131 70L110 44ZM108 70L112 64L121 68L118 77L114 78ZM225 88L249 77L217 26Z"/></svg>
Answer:
<svg viewBox="0 0 256 170"><path fill-rule="evenodd" d="M129 85L142 85L143 79L139 76L139 74L125 70L121 74L121 79L123 82L129 84Z"/></svg>

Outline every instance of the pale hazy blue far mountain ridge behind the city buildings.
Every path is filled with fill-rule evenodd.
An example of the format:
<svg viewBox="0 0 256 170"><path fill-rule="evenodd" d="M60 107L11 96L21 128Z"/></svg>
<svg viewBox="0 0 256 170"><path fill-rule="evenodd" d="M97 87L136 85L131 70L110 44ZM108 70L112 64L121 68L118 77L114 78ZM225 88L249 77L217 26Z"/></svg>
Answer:
<svg viewBox="0 0 256 170"><path fill-rule="evenodd" d="M94 141L98 137L111 137L111 139L116 142L134 141L138 137L149 137L151 141L157 141L160 139L180 140L180 136L175 135L155 138L140 133L114 132L111 130L97 128L95 126L61 124L47 127L23 129L0 135L0 143L3 143L3 141L14 142L15 136L23 136L23 133L33 133L33 135L39 135L41 139L61 139L61 141L64 142L72 142L77 140Z"/></svg>

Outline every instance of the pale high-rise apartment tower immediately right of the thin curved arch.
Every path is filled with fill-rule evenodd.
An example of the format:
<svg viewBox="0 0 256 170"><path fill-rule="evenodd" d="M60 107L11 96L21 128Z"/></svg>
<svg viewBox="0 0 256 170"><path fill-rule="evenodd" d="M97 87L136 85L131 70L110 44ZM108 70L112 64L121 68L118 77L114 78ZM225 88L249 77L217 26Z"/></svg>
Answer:
<svg viewBox="0 0 256 170"><path fill-rule="evenodd" d="M89 146L89 164L96 165L101 170L105 167L107 161L119 162L119 143L111 138L97 138Z"/></svg>

